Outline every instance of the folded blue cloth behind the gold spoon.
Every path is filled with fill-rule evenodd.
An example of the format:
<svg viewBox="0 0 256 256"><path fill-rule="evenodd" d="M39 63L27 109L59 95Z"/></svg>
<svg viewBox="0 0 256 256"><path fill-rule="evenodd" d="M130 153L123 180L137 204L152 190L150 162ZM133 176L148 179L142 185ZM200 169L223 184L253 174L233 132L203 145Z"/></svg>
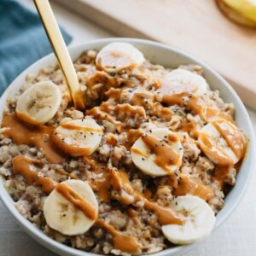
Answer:
<svg viewBox="0 0 256 256"><path fill-rule="evenodd" d="M69 44L72 38L61 29ZM33 62L52 52L38 14L15 0L0 3L0 95Z"/></svg>

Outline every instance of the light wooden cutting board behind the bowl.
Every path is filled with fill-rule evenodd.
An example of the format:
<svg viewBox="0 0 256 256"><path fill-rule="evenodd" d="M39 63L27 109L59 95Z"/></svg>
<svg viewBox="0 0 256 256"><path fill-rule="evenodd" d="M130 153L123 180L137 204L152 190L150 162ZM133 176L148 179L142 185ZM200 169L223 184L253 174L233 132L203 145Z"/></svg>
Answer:
<svg viewBox="0 0 256 256"><path fill-rule="evenodd" d="M221 73L256 110L256 30L227 20L214 0L55 0L123 37L183 49Z"/></svg>

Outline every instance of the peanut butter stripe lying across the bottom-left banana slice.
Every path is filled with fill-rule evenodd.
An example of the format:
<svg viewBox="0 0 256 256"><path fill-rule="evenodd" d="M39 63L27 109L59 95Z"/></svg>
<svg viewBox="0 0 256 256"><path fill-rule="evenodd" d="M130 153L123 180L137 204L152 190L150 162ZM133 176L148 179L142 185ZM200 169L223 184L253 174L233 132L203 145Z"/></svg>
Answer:
<svg viewBox="0 0 256 256"><path fill-rule="evenodd" d="M79 208L81 212L84 212L84 215L87 218L95 220L98 216L96 208L93 207L89 201L86 201L84 197L79 195L72 188L67 186L65 183L59 183L55 188L61 195L63 195L68 201L70 201L74 207Z"/></svg>

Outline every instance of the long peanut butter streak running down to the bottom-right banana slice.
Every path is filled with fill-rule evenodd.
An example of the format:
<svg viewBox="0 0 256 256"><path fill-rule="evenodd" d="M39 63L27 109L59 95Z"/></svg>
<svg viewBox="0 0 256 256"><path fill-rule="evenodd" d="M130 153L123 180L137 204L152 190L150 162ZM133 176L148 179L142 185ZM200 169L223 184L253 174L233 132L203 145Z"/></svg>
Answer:
<svg viewBox="0 0 256 256"><path fill-rule="evenodd" d="M120 170L119 172L112 171L111 174L113 189L118 191L125 189L127 194L134 196L135 202L143 201L144 208L150 212L154 212L158 216L158 220L161 225L183 224L183 220L177 216L176 212L174 212L172 208L160 207L156 202L148 201L138 191L134 190L127 174L123 170ZM130 201L127 201L122 196L119 196L118 199L125 205L131 204Z"/></svg>

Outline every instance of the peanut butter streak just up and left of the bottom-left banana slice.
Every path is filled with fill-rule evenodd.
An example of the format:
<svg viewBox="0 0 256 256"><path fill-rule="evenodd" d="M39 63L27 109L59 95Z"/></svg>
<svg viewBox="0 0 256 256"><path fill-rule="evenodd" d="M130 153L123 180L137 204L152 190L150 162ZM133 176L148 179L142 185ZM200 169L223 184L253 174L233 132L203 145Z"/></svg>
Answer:
<svg viewBox="0 0 256 256"><path fill-rule="evenodd" d="M32 165L43 167L44 162L27 158L23 155L18 155L15 156L12 163L14 173L25 177L28 185L33 184L35 186L40 186L46 194L49 194L53 189L55 189L55 181L50 177L42 176L38 171L32 169Z"/></svg>

